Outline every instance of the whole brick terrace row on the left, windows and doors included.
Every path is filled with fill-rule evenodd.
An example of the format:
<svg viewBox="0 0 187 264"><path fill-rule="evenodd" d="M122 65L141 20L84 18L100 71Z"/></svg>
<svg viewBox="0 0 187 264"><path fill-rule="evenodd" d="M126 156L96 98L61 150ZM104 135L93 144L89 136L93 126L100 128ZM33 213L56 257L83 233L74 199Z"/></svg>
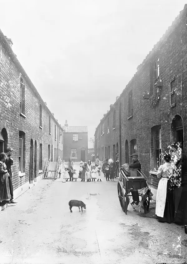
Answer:
<svg viewBox="0 0 187 264"><path fill-rule="evenodd" d="M47 108L0 31L0 152L13 148L14 198L43 175L46 161L63 156L63 129Z"/></svg>

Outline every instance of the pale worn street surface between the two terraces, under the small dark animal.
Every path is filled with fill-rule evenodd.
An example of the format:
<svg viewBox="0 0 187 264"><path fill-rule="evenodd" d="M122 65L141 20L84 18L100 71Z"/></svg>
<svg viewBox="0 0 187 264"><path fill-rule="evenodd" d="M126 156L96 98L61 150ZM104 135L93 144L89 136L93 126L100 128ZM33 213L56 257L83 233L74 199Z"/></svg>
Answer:
<svg viewBox="0 0 187 264"><path fill-rule="evenodd" d="M125 215L117 181L42 180L26 191L0 213L0 263L184 263L181 227L140 217L131 205ZM71 199L86 210L70 213Z"/></svg>

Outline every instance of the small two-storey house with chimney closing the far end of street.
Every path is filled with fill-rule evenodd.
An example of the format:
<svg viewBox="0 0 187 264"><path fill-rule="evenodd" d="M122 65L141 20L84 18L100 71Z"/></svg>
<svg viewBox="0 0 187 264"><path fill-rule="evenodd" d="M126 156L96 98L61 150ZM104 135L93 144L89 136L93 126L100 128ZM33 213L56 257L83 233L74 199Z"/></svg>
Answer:
<svg viewBox="0 0 187 264"><path fill-rule="evenodd" d="M87 126L69 126L64 124L64 160L70 158L74 162L88 160L88 131Z"/></svg>

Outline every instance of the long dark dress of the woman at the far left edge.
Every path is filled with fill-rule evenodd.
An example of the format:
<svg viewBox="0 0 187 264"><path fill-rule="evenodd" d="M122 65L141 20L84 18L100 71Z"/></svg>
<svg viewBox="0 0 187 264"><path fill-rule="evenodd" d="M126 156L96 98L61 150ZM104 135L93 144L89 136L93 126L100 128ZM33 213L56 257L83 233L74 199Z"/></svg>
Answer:
<svg viewBox="0 0 187 264"><path fill-rule="evenodd" d="M3 201L10 201L11 199L8 174L4 174L4 170L6 169L6 164L0 161L0 203Z"/></svg>

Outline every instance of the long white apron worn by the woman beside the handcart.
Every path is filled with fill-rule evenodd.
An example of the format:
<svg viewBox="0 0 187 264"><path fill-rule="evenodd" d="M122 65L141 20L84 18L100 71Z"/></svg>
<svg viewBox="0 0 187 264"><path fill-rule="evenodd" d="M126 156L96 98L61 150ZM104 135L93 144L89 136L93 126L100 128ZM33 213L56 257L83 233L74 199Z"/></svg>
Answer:
<svg viewBox="0 0 187 264"><path fill-rule="evenodd" d="M156 212L155 214L159 217L164 217L168 180L169 178L161 178L158 183L158 189L156 193Z"/></svg>

